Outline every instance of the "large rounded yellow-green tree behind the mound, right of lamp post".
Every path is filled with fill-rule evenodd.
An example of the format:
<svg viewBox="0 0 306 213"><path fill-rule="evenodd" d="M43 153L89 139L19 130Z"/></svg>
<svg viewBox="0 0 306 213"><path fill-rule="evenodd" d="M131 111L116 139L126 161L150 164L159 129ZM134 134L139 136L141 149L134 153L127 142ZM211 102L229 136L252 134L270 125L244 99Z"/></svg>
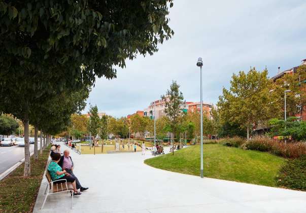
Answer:
<svg viewBox="0 0 306 213"><path fill-rule="evenodd" d="M247 74L243 71L238 75L233 74L229 90L223 88L223 94L219 96L217 105L221 118L246 128L247 138L253 126L271 116L270 105L273 101L270 99L267 74L266 69L258 72L255 68L251 68Z"/></svg>

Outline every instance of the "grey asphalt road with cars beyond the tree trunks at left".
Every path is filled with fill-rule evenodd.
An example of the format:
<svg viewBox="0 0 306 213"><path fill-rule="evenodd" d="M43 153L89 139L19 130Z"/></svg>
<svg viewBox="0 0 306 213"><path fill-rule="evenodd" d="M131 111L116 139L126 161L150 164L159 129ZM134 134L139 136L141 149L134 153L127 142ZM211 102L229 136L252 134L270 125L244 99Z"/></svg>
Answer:
<svg viewBox="0 0 306 213"><path fill-rule="evenodd" d="M40 148L40 143L38 143ZM34 145L30 144L30 153L33 152ZM24 147L0 147L0 174L12 167L15 163L24 158Z"/></svg>

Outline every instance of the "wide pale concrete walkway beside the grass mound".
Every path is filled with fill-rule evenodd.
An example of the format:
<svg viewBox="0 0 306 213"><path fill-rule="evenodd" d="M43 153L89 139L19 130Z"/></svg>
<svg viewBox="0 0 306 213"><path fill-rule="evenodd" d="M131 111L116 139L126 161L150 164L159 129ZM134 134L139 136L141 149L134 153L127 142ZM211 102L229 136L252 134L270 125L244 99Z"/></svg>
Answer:
<svg viewBox="0 0 306 213"><path fill-rule="evenodd" d="M62 146L65 148L64 146ZM306 193L180 174L143 163L147 152L78 155L75 174L89 190L50 195L43 180L34 212L306 212Z"/></svg>

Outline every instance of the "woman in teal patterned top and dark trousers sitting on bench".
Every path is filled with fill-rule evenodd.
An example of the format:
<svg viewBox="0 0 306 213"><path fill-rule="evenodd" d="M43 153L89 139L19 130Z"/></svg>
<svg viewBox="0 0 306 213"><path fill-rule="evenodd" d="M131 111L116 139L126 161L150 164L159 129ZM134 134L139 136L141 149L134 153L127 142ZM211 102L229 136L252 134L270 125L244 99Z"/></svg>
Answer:
<svg viewBox="0 0 306 213"><path fill-rule="evenodd" d="M54 153L52 156L52 161L48 166L48 171L50 173L52 181L62 180L59 183L63 183L66 180L67 182L71 182L74 190L73 195L80 195L81 193L78 192L76 187L76 179L72 175L67 173L65 170L61 170L61 167L57 164L60 157L61 156L59 153Z"/></svg>

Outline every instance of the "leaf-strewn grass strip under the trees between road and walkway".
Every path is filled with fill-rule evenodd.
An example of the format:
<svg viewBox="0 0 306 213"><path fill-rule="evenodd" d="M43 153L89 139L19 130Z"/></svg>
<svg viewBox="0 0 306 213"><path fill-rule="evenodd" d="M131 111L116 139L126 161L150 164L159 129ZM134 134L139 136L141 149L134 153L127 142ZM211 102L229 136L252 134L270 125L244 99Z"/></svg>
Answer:
<svg viewBox="0 0 306 213"><path fill-rule="evenodd" d="M44 150L38 161L31 157L29 177L23 177L23 163L0 181L0 212L32 212L49 152L49 150Z"/></svg>

